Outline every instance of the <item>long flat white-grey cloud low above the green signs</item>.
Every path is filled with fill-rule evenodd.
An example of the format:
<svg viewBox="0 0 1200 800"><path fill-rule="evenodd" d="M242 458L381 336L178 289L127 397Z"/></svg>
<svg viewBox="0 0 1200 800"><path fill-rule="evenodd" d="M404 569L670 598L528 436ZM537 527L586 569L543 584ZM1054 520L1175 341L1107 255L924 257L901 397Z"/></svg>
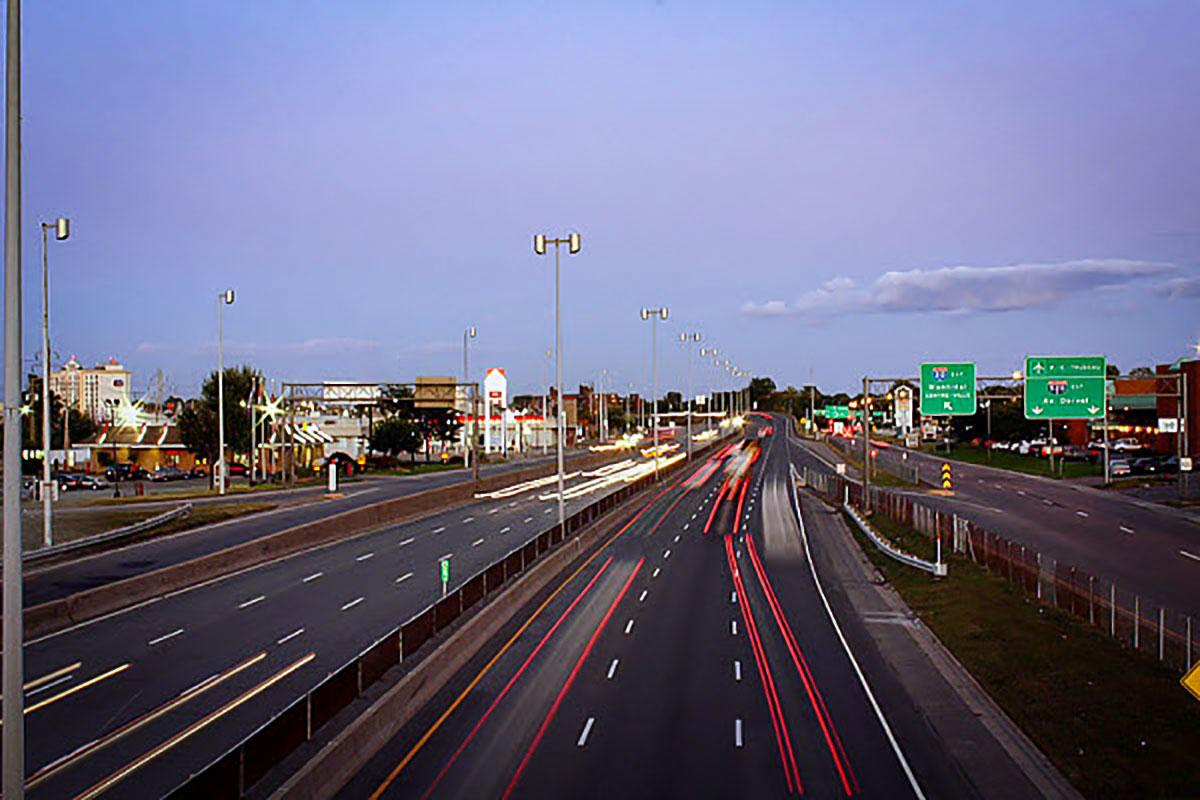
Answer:
<svg viewBox="0 0 1200 800"><path fill-rule="evenodd" d="M1154 261L1082 259L1057 264L893 271L884 272L869 287L859 288L850 278L838 277L805 291L792 303L781 300L748 302L742 311L754 317L1019 311L1054 305L1094 289L1128 285L1170 273L1174 269L1170 264ZM1187 293L1200 291L1200 287L1189 284L1178 290L1184 293L1183 296L1190 296Z"/></svg>

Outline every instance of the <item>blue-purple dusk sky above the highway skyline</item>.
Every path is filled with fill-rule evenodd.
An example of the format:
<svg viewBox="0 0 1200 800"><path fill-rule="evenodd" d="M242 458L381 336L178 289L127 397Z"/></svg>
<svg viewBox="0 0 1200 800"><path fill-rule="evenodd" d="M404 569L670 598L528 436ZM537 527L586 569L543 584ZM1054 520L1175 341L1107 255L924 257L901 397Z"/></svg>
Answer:
<svg viewBox="0 0 1200 800"><path fill-rule="evenodd" d="M505 367L682 387L1200 341L1200 4L29 2L25 355L184 395ZM478 373L476 373L478 374ZM697 368L712 377L712 368Z"/></svg>

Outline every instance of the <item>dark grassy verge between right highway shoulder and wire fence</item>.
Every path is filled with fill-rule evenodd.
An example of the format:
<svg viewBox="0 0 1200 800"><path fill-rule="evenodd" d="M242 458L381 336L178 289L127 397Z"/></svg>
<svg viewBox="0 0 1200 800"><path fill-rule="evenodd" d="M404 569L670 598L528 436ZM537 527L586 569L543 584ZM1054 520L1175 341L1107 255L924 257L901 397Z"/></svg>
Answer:
<svg viewBox="0 0 1200 800"><path fill-rule="evenodd" d="M881 515L896 545L929 540ZM989 694L1088 798L1200 795L1200 703L1156 660L1026 597L970 560L935 579L880 553L868 558Z"/></svg>

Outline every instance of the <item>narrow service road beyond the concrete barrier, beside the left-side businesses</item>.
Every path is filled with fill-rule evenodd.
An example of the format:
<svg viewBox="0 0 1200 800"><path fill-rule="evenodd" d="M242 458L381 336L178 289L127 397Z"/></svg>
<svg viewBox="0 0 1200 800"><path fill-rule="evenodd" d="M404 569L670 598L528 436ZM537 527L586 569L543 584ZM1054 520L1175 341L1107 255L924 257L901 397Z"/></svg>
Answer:
<svg viewBox="0 0 1200 800"><path fill-rule="evenodd" d="M572 452L578 457L586 452ZM552 464L553 456L539 456L506 464L488 464L480 468L484 476L503 475L506 471L526 469L538 464ZM570 458L568 459L570 463ZM149 539L119 549L98 553L82 559L34 567L25 572L25 604L50 602L84 589L104 585L114 581L131 578L164 566L199 558L216 551L278 533L293 525L320 519L352 509L415 494L426 489L463 483L470 480L467 470L426 473L402 477L372 477L347 483L336 499L325 499L324 487L298 489L295 492L252 493L230 497L230 501L254 503L258 500L282 500L304 498L305 503L282 505L271 511L238 517L227 522L186 530L170 536ZM170 504L174 507L178 504ZM142 507L140 505L137 507Z"/></svg>

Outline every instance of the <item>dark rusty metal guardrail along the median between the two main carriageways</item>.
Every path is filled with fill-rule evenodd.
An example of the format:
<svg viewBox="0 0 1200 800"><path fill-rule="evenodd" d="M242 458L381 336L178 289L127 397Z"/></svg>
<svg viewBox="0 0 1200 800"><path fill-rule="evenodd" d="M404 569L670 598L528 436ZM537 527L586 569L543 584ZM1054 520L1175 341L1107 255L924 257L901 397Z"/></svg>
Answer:
<svg viewBox="0 0 1200 800"><path fill-rule="evenodd" d="M714 440L709 447L720 441L721 439ZM660 482L688 465L688 462L679 462L662 470ZM452 626L467 610L505 587L510 578L524 572L544 553L566 541L570 534L606 516L626 499L653 485L653 475L640 477L576 511L562 525L556 523L524 545L509 551L457 589L394 627L348 663L330 672L302 697L289 703L208 766L185 778L167 796L172 800L244 796L295 748L311 741L314 732L356 700L384 673L416 656L421 646L437 633Z"/></svg>

